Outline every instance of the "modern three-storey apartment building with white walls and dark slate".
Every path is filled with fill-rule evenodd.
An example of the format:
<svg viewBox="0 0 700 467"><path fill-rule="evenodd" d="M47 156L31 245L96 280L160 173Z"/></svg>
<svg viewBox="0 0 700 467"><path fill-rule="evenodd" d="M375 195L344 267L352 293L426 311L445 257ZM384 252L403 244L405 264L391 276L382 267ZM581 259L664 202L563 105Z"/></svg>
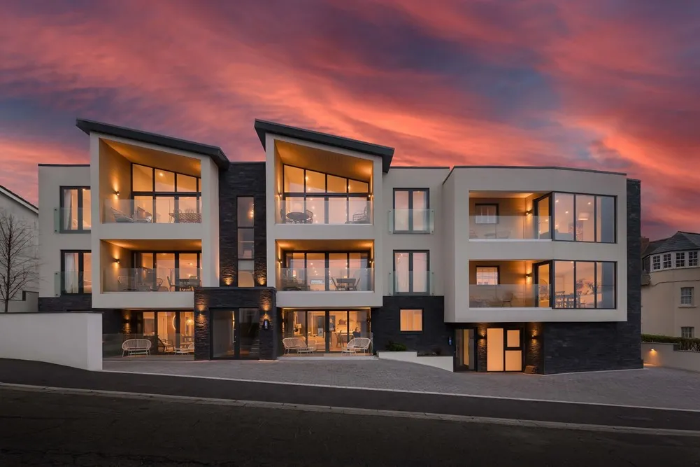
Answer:
<svg viewBox="0 0 700 467"><path fill-rule="evenodd" d="M370 337L456 370L642 365L640 184L624 174L397 167L393 148L267 121L264 162L78 128L90 164L39 168L44 311L103 311L105 334L157 353L193 339L200 360Z"/></svg>

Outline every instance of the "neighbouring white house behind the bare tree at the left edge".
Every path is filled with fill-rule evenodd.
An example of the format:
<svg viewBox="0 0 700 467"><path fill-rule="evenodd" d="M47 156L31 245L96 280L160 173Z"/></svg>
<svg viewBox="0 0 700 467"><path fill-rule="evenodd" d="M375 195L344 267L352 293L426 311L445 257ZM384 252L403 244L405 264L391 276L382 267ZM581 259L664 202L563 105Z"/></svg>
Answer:
<svg viewBox="0 0 700 467"><path fill-rule="evenodd" d="M0 215L6 214L15 216L20 222L34 229L34 251L30 253L34 258L38 258L38 208L32 203L29 203L25 198L22 198L22 196L0 185ZM38 264L36 267L38 268ZM37 311L38 282L37 273L34 275L34 278L27 283L26 287L22 287L22 290L19 290L13 295L10 299L8 311ZM0 300L0 312L3 310L4 304Z"/></svg>

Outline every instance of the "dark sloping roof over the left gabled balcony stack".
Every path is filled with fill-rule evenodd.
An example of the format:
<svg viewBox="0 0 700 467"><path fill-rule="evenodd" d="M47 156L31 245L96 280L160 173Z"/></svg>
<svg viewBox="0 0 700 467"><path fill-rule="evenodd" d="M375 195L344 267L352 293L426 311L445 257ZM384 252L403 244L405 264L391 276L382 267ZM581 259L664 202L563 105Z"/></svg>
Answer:
<svg viewBox="0 0 700 467"><path fill-rule="evenodd" d="M77 119L76 126L80 128L80 130L83 130L83 132L85 132L87 135L90 135L92 132L103 133L104 135L126 138L127 140L179 149L180 151L195 152L197 154L202 154L203 156L211 157L219 168L223 170L228 169L228 157L226 157L226 154L224 154L224 152L218 146L211 146L210 144L202 144L188 140L180 140L179 138L158 135L156 133L148 133L146 131L134 130L132 128L125 128L123 126L110 125L109 123L102 123L92 120Z"/></svg>

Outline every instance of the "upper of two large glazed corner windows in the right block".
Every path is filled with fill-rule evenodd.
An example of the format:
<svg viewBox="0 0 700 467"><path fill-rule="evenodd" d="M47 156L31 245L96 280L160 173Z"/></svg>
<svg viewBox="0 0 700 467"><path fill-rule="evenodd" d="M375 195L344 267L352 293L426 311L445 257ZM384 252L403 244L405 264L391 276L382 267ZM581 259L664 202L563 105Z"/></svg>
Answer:
<svg viewBox="0 0 700 467"><path fill-rule="evenodd" d="M554 240L615 243L615 197L554 194Z"/></svg>

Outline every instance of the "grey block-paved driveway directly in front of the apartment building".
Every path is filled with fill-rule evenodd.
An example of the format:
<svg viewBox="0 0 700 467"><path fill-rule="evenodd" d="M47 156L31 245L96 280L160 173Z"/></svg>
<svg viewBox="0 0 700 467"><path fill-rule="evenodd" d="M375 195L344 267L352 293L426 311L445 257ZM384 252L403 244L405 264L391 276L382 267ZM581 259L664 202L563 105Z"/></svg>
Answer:
<svg viewBox="0 0 700 467"><path fill-rule="evenodd" d="M125 359L105 360L104 370L700 410L700 374L659 367L541 376L450 373L413 363L350 358L271 362Z"/></svg>

